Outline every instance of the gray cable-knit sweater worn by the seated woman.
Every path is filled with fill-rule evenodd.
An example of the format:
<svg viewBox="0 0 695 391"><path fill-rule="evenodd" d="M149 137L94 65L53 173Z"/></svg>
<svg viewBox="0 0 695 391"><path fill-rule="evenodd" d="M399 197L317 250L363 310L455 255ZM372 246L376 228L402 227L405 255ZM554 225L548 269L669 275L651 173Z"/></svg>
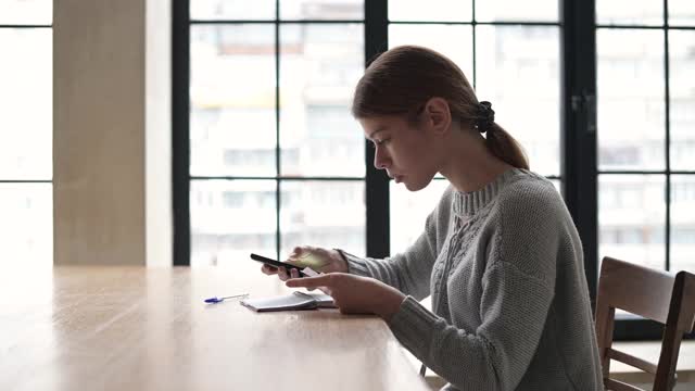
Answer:
<svg viewBox="0 0 695 391"><path fill-rule="evenodd" d="M389 327L444 389L602 389L581 242L545 178L515 168L475 192L450 186L407 251L341 254L407 294ZM430 294L434 313L418 303Z"/></svg>

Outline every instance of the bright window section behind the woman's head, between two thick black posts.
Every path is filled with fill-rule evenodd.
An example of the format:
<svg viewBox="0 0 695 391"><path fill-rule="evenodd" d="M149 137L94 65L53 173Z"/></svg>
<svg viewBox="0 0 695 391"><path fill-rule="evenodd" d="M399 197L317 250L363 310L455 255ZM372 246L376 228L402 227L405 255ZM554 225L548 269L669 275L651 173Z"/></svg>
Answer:
<svg viewBox="0 0 695 391"><path fill-rule="evenodd" d="M531 169L560 178L560 28L557 1L389 2L389 47L421 45L464 71L496 122L525 147ZM413 193L390 185L391 253L405 250L425 227L447 181Z"/></svg>

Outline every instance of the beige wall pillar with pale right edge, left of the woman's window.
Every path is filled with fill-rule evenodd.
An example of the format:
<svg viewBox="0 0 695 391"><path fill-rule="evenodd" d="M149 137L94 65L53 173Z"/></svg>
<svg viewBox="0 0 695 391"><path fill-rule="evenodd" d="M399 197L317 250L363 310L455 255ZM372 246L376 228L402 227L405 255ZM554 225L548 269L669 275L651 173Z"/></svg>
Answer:
<svg viewBox="0 0 695 391"><path fill-rule="evenodd" d="M170 264L169 1L54 2L55 264Z"/></svg>

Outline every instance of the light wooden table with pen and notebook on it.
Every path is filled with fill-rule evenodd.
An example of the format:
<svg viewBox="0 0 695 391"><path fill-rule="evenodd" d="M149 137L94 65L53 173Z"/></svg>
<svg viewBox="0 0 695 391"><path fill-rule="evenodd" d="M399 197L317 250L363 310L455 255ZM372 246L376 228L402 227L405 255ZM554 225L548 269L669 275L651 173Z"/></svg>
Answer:
<svg viewBox="0 0 695 391"><path fill-rule="evenodd" d="M427 390L387 325L254 313L290 290L230 268L61 266L0 274L0 390Z"/></svg>

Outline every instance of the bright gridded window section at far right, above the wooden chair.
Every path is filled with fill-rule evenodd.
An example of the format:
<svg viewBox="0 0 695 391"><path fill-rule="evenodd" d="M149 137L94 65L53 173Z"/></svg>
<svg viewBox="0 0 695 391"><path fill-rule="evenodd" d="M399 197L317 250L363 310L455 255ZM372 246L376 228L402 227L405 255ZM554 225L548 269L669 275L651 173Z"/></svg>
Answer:
<svg viewBox="0 0 695 391"><path fill-rule="evenodd" d="M599 255L695 272L695 2L596 2Z"/></svg>

